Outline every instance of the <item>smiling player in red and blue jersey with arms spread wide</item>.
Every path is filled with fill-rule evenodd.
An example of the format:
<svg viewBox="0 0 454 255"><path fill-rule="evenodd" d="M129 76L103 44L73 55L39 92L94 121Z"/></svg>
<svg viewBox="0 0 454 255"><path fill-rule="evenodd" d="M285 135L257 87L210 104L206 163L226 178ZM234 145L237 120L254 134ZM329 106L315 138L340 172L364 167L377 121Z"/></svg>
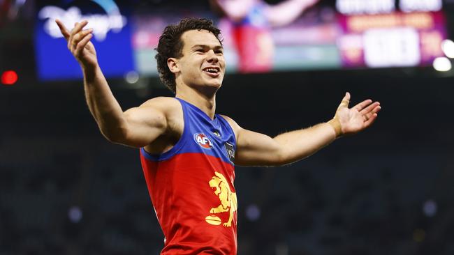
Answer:
<svg viewBox="0 0 454 255"><path fill-rule="evenodd" d="M236 254L234 164L279 166L312 155L343 134L371 125L379 102L349 109L346 93L335 118L271 138L215 114L226 62L219 29L204 19L167 26L157 47L161 80L175 98L152 98L122 111L90 42L86 21L68 31L56 21L84 74L91 114L109 141L140 148L149 195L166 237L161 254Z"/></svg>

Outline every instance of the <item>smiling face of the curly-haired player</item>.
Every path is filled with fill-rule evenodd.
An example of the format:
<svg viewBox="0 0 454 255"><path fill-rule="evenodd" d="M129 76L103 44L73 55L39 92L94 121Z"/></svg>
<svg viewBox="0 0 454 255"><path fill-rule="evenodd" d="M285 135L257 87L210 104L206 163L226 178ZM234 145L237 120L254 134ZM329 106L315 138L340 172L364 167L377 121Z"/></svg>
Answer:
<svg viewBox="0 0 454 255"><path fill-rule="evenodd" d="M183 56L177 59L177 79L187 86L219 88L224 79L224 49L214 34L207 30L190 30L182 34Z"/></svg>

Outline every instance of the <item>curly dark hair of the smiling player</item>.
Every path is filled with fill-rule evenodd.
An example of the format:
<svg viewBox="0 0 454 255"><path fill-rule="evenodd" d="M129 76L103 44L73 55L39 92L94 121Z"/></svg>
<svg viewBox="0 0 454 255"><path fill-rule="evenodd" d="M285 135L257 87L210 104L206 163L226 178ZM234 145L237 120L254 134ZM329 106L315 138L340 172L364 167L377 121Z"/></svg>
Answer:
<svg viewBox="0 0 454 255"><path fill-rule="evenodd" d="M180 58L183 56L182 49L184 43L181 39L182 34L189 30L207 30L216 36L222 45L220 38L221 31L214 26L212 20L186 17L178 24L166 26L162 35L159 37L158 47L156 47L156 62L158 63L159 78L168 86L170 91L176 93L175 74L170 72L167 65L169 58Z"/></svg>

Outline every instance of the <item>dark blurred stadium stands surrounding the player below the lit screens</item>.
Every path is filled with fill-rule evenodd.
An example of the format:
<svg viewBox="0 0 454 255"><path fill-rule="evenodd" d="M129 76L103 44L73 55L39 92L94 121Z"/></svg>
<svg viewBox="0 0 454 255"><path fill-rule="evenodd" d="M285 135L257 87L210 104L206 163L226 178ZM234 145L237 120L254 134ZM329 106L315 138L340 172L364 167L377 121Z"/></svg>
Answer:
<svg viewBox="0 0 454 255"><path fill-rule="evenodd" d="M161 3L135 4L144 11ZM452 10L446 1L450 38ZM16 70L19 79L0 87L0 254L159 254L163 234L138 150L103 139L80 80L38 79L36 4L6 13L0 72ZM123 109L171 95L156 77L109 82ZM453 72L229 74L217 111L276 135L328 121L345 91L353 103L381 102L369 130L286 167L236 168L238 254L453 254Z"/></svg>

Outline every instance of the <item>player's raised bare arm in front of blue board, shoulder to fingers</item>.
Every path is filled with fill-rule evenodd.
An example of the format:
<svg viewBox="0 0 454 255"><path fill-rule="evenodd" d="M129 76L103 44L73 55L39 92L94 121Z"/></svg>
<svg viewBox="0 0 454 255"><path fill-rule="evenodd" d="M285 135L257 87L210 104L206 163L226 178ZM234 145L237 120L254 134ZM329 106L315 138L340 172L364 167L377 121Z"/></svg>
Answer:
<svg viewBox="0 0 454 255"><path fill-rule="evenodd" d="M123 112L98 65L96 50L90 42L92 29L83 30L87 21L68 31L56 20L68 42L68 49L79 62L84 75L85 98L101 133L109 141L127 146L147 146L166 130L166 114L159 109L160 99Z"/></svg>

